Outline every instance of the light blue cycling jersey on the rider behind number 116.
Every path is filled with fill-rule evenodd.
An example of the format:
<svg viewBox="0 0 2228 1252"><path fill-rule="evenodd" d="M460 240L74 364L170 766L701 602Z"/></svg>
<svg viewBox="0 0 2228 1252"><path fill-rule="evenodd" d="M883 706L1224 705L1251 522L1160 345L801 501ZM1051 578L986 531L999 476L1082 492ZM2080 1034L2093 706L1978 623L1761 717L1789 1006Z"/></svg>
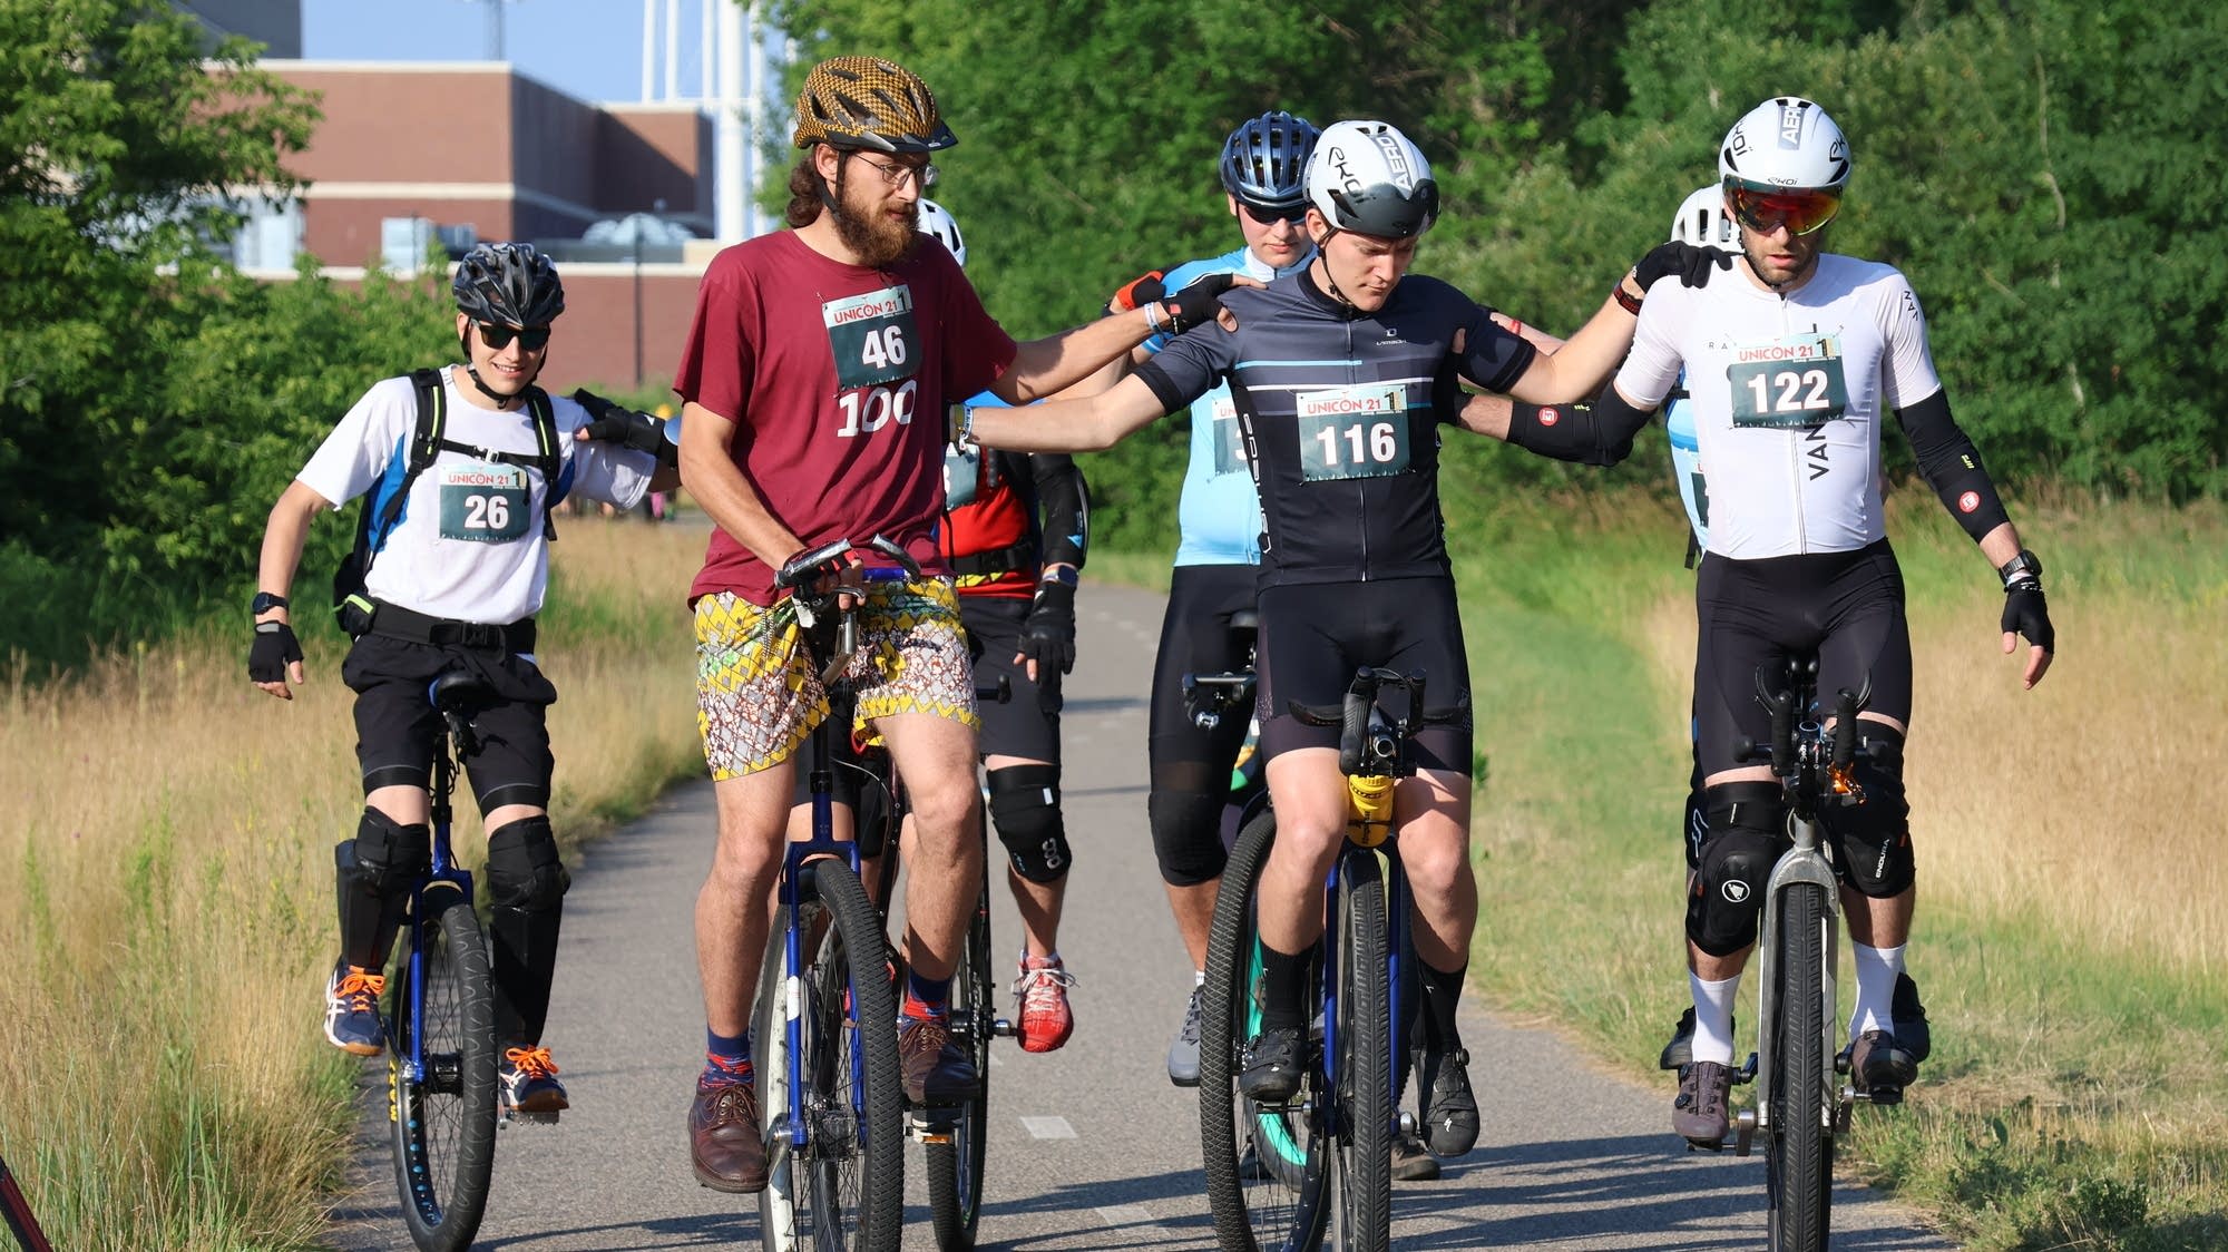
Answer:
<svg viewBox="0 0 2228 1252"><path fill-rule="evenodd" d="M1268 283L1315 261L1315 250L1283 270L1270 270L1250 247L1192 261L1161 276L1170 292L1181 292L1210 274L1245 274ZM1147 352L1167 348L1170 336L1145 341ZM1245 443L1239 437L1237 405L1230 385L1192 401L1192 457L1183 470L1183 499L1176 503L1179 566L1259 566L1261 499L1254 495L1252 470L1245 468Z"/></svg>

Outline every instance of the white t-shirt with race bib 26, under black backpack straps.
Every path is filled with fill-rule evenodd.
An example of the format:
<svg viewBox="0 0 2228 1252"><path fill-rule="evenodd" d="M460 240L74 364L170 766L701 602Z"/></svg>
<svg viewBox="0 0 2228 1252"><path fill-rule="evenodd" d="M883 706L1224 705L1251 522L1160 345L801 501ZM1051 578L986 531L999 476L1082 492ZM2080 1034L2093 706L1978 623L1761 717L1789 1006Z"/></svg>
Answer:
<svg viewBox="0 0 2228 1252"><path fill-rule="evenodd" d="M457 368L441 372L448 388L448 419L441 439L483 452L532 457L532 412L497 412L463 399ZM568 495L633 508L651 490L657 459L617 443L579 443L573 432L588 412L564 397L550 397L559 481ZM381 379L363 392L348 417L332 428L296 481L345 506L379 488L385 499L410 466L417 434L417 388L410 376ZM428 617L452 622L517 622L541 610L548 590L548 539L544 510L550 483L526 466L441 450L410 483L410 499L388 532L370 575L372 599L399 604Z"/></svg>

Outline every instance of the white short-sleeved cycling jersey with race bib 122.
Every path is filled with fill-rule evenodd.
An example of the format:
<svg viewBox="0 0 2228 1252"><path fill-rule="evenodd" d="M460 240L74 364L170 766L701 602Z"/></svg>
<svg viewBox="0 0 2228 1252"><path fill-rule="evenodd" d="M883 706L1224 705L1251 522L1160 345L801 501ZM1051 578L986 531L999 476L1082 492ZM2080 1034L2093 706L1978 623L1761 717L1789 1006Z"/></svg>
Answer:
<svg viewBox="0 0 2228 1252"><path fill-rule="evenodd" d="M1825 254L1785 296L1745 267L1707 287L1658 283L1618 392L1655 408L1682 365L1711 552L1847 552L1885 535L1880 419L1941 390L1927 319L1894 265Z"/></svg>

